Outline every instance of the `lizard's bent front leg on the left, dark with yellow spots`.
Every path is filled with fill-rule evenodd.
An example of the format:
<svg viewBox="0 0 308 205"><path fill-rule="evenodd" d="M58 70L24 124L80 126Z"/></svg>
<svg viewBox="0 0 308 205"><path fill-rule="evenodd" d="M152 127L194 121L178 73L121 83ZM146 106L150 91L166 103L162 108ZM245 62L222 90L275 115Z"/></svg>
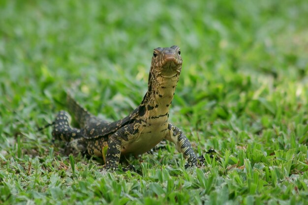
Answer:
<svg viewBox="0 0 308 205"><path fill-rule="evenodd" d="M105 169L118 169L121 149L139 135L140 124L131 123L112 134L108 140Z"/></svg>

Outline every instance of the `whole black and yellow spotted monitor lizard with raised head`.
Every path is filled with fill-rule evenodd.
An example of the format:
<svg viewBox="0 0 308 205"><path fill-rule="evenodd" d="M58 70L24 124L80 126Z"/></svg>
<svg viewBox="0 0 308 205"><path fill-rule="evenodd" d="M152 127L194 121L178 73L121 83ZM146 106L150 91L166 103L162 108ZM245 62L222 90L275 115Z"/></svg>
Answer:
<svg viewBox="0 0 308 205"><path fill-rule="evenodd" d="M68 107L81 129L70 126L70 116L61 111L54 122L52 135L69 143L75 152L102 156L107 148L106 169L117 169L121 154L145 153L163 139L173 142L188 164L197 157L183 132L168 121L169 108L182 70L178 46L156 48L153 52L148 91L140 105L127 117L115 122L97 118L67 93Z"/></svg>

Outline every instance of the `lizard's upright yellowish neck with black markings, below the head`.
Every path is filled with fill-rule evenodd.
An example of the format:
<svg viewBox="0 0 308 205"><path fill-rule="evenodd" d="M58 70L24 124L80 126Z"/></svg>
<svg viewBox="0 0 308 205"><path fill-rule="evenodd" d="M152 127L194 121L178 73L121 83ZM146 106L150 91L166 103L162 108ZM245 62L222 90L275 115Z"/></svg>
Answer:
<svg viewBox="0 0 308 205"><path fill-rule="evenodd" d="M169 117L169 108L173 100L174 92L179 81L177 74L171 78L156 76L150 74L148 91L140 106L144 106L145 118L150 121L167 121ZM161 120L160 120L161 119Z"/></svg>

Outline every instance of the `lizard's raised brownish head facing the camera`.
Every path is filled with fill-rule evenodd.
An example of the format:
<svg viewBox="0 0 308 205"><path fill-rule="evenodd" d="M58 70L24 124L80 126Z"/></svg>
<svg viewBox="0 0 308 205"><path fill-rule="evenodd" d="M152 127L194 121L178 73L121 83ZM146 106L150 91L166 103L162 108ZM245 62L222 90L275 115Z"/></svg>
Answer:
<svg viewBox="0 0 308 205"><path fill-rule="evenodd" d="M172 78L181 73L182 62L179 46L155 48L151 63L151 73L154 76Z"/></svg>

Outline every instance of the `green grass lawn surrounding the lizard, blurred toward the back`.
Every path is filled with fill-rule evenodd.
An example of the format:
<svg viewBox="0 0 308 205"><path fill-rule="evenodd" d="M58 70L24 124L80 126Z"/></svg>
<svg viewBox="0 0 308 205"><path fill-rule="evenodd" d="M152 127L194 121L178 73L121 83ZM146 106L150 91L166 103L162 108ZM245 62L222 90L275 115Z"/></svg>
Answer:
<svg viewBox="0 0 308 205"><path fill-rule="evenodd" d="M0 0L0 204L307 204L307 19L306 0ZM105 173L36 131L77 81L93 114L124 117L152 49L174 44L170 121L204 167L185 169L167 144L129 158L136 173Z"/></svg>

